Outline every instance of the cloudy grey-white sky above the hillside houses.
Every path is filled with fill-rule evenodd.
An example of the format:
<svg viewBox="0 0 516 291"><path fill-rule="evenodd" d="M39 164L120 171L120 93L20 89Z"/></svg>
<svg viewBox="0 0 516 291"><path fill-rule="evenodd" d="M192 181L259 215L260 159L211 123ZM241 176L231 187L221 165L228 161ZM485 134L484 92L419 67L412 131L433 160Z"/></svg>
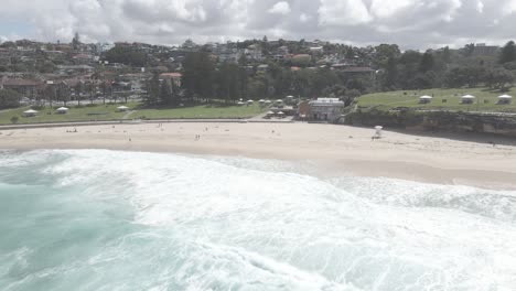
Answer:
<svg viewBox="0 0 516 291"><path fill-rule="evenodd" d="M262 37L404 48L503 44L516 0L0 0L0 41L179 44Z"/></svg>

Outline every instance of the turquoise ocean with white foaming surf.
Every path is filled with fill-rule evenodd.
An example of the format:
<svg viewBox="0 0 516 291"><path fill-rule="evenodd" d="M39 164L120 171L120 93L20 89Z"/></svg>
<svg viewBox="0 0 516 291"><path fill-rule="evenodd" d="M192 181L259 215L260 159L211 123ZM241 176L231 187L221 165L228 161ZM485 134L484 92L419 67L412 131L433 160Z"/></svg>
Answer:
<svg viewBox="0 0 516 291"><path fill-rule="evenodd" d="M324 176L0 151L0 290L516 290L516 192Z"/></svg>

